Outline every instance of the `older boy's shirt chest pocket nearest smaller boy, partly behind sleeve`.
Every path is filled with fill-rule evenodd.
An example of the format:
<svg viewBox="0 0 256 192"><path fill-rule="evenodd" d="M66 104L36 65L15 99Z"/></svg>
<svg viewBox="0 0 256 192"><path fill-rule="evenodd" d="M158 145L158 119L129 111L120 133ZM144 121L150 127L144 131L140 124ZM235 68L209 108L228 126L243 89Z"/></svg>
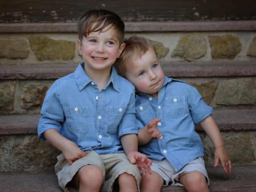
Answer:
<svg viewBox="0 0 256 192"><path fill-rule="evenodd" d="M108 131L117 132L117 127L122 120L126 109L126 106L109 106Z"/></svg>

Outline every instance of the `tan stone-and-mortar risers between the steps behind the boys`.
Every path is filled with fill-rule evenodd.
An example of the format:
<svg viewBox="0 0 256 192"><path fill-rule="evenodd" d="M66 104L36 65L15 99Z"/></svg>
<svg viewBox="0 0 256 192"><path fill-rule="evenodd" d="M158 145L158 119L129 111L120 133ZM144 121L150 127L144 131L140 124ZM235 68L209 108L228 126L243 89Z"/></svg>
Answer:
<svg viewBox="0 0 256 192"><path fill-rule="evenodd" d="M255 62L256 67L256 32L141 32L136 35L156 45L160 63L250 61ZM74 63L75 68L82 61L76 39L76 33L2 33L0 70L10 65L26 67L51 63ZM179 79L196 87L214 109L256 109L256 76ZM1 79L0 115L39 114L54 80ZM204 143L206 165L212 165L212 142L204 132L199 134ZM255 163L255 131L223 131L222 136L234 164ZM36 135L0 135L0 145L0 171L52 169L59 153Z"/></svg>

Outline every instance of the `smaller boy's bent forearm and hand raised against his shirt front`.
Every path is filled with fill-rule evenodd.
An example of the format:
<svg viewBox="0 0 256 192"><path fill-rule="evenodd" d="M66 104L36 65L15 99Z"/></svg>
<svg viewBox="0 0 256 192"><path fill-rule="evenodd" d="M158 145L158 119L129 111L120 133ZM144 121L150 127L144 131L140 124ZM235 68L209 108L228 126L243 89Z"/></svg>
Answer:
<svg viewBox="0 0 256 192"><path fill-rule="evenodd" d="M161 119L151 119L144 128L139 130L139 146L145 145L154 137L159 139L163 135L162 133L159 133L159 129L157 127L157 122L159 121L161 121Z"/></svg>

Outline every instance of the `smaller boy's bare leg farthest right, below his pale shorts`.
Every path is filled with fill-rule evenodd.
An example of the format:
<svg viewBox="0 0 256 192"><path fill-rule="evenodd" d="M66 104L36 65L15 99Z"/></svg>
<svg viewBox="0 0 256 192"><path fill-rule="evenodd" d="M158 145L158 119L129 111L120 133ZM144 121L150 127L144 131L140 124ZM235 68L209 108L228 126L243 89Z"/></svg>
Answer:
<svg viewBox="0 0 256 192"><path fill-rule="evenodd" d="M188 172L182 175L179 181L184 185L188 192L209 192L206 178L201 172Z"/></svg>

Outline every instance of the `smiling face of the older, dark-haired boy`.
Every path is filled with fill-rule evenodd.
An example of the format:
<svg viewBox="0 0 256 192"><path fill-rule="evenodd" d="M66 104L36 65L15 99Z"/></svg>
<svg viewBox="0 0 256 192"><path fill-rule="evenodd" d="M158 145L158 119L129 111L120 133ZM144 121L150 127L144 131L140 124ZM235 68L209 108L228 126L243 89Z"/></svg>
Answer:
<svg viewBox="0 0 256 192"><path fill-rule="evenodd" d="M85 71L109 71L124 49L118 39L117 30L106 26L100 33L91 32L83 41L77 40L80 54L85 62Z"/></svg>

